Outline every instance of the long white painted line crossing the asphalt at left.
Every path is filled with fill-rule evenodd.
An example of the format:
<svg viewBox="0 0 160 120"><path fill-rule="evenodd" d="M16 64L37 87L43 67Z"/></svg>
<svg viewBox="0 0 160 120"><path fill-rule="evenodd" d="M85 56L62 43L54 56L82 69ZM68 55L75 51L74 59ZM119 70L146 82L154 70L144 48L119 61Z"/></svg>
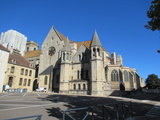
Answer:
<svg viewBox="0 0 160 120"><path fill-rule="evenodd" d="M0 110L0 112L2 112L2 111L8 111L8 110L19 110L19 109L25 109L25 108L34 108L34 107L50 106L50 105L55 105L55 104L65 104L65 103L59 102L59 103L44 104L44 105L30 105L30 106L26 106L26 107L3 109L3 110Z"/></svg>

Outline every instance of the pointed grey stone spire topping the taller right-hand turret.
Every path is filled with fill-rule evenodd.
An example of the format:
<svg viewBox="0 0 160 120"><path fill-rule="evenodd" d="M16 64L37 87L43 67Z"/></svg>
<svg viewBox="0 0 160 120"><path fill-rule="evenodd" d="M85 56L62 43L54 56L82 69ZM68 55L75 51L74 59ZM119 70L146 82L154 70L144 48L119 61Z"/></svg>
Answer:
<svg viewBox="0 0 160 120"><path fill-rule="evenodd" d="M102 46L96 30L94 31L94 35L92 37L91 46Z"/></svg>

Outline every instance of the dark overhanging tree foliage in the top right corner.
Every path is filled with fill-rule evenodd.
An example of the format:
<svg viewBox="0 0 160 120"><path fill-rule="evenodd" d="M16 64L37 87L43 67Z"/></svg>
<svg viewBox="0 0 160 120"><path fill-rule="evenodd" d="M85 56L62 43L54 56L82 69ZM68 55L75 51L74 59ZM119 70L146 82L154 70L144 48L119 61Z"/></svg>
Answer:
<svg viewBox="0 0 160 120"><path fill-rule="evenodd" d="M152 31L160 30L160 0L153 0L151 2L147 16L151 18L151 20L148 21L148 25L145 25L145 27Z"/></svg>

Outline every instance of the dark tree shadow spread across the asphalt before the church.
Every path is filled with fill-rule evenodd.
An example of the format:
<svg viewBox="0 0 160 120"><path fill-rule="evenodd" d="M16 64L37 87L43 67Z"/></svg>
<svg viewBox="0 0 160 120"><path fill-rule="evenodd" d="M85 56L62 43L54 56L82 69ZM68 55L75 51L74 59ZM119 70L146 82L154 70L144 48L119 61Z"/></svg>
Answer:
<svg viewBox="0 0 160 120"><path fill-rule="evenodd" d="M57 119L62 119L63 117L63 110L68 109L75 109L75 108L82 108L82 107L90 107L94 106L94 120L102 120L103 116L103 104L110 104L110 103L121 103L121 99L112 99L107 97L92 97L92 96L75 96L75 95L48 95L45 98L39 98L43 101L51 101L53 103L63 103L63 107L51 107L47 108L47 112L49 116L53 116ZM124 100L123 100L124 102ZM110 106L109 109L113 109L113 106ZM143 116L145 113L152 108L150 104L142 104L132 102L132 112L134 116ZM81 120L85 114L85 110L79 111L71 111L70 114L76 118L76 120ZM107 113L105 112L105 116ZM108 115L107 115L108 116ZM92 114L90 113L86 120L91 120ZM69 117L66 117L65 120L71 120Z"/></svg>

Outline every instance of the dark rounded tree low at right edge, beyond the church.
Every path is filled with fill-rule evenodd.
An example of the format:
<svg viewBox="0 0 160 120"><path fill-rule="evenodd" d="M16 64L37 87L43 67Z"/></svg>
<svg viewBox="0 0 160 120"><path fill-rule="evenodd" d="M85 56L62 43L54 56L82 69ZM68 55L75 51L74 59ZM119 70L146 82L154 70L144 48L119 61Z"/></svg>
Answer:
<svg viewBox="0 0 160 120"><path fill-rule="evenodd" d="M155 74L148 75L146 86L151 89L160 88L160 79Z"/></svg>

